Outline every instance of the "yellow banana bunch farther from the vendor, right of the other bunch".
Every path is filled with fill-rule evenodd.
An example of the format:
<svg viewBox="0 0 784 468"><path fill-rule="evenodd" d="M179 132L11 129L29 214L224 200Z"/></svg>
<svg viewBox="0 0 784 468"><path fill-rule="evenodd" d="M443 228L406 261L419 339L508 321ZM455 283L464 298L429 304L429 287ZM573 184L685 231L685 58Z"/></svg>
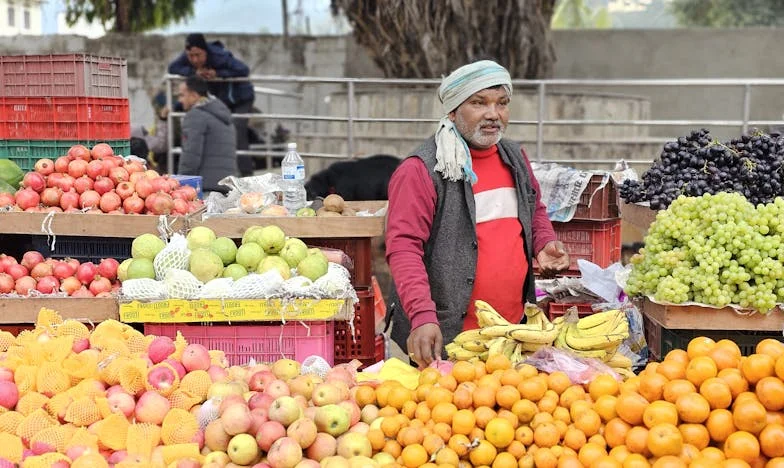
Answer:
<svg viewBox="0 0 784 468"><path fill-rule="evenodd" d="M631 377L632 361L618 352L618 346L629 337L629 322L620 310L608 310L576 319L576 312L567 312L555 347L580 357L604 361L623 377Z"/></svg>

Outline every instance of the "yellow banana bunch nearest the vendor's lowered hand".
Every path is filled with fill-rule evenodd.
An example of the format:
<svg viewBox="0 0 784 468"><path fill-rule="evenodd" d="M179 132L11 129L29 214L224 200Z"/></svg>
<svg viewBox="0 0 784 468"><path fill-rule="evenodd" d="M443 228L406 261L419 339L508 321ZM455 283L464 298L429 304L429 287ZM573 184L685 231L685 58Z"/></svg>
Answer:
<svg viewBox="0 0 784 468"><path fill-rule="evenodd" d="M551 323L535 305L526 305L525 324L509 323L484 301L476 301L474 306L480 328L464 331L446 345L446 352L452 360L484 361L503 354L512 363L520 362L540 348L551 346L564 323L563 318Z"/></svg>

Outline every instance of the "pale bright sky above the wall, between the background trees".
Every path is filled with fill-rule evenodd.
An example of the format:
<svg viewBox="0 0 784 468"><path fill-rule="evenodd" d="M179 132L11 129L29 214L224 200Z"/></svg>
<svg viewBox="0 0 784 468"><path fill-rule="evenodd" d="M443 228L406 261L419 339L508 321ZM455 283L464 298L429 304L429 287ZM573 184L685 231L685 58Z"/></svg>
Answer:
<svg viewBox="0 0 784 468"><path fill-rule="evenodd" d="M312 28L325 27L330 21L330 0L288 0L289 14L302 4L310 17ZM65 11L64 0L47 0L43 5L44 34L57 33L57 14ZM205 33L259 33L280 34L282 26L281 0L196 0L195 15L187 23L171 25L163 34L200 31Z"/></svg>

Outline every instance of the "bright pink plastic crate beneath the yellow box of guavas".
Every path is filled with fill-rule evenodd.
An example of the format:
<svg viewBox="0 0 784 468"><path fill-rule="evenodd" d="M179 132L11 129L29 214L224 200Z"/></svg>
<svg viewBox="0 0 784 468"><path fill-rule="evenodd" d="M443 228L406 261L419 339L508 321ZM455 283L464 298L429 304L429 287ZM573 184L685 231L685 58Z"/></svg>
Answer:
<svg viewBox="0 0 784 468"><path fill-rule="evenodd" d="M289 358L302 362L308 356L321 356L335 363L335 322L286 322L277 324L193 325L184 323L144 324L145 335L174 338L177 331L188 343L226 353L231 365L274 362ZM307 325L307 326L306 326Z"/></svg>

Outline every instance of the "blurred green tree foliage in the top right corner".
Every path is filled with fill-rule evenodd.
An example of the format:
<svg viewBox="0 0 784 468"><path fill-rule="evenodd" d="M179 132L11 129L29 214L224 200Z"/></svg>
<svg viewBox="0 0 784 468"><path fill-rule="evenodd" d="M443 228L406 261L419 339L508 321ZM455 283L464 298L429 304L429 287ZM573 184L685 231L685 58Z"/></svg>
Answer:
<svg viewBox="0 0 784 468"><path fill-rule="evenodd" d="M673 0L670 9L682 26L784 26L781 0Z"/></svg>

